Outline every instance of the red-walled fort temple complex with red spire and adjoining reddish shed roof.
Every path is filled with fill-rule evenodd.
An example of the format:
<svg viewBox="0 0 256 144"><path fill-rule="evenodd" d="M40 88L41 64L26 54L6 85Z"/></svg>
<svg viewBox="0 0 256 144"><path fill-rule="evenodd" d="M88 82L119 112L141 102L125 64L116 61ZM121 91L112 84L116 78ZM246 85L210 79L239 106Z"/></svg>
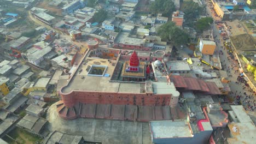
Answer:
<svg viewBox="0 0 256 144"><path fill-rule="evenodd" d="M60 90L59 116L139 122L171 120L171 111L176 109L182 91L220 94L213 82L171 76L160 53L165 55L160 51L146 57L147 53L135 50L92 47Z"/></svg>

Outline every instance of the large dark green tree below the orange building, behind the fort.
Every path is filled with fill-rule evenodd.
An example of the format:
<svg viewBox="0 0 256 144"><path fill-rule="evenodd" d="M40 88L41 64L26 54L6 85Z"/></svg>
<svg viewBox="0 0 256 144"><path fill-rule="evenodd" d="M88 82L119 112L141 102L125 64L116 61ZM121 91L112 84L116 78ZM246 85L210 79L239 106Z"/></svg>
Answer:
<svg viewBox="0 0 256 144"><path fill-rule="evenodd" d="M168 21L164 25L160 26L158 34L162 40L171 41L177 45L188 43L188 34L178 28L172 21Z"/></svg>

